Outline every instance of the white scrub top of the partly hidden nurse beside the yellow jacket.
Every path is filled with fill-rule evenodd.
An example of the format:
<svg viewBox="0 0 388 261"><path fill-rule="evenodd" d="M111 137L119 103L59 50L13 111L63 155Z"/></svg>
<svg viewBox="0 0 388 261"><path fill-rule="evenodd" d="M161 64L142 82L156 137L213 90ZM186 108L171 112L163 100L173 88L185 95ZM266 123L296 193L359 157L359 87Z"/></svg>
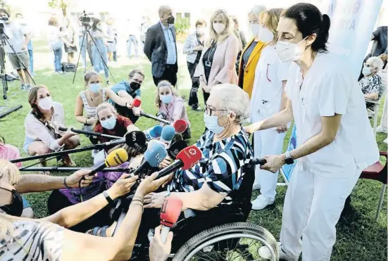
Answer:
<svg viewBox="0 0 388 261"><path fill-rule="evenodd" d="M280 111L282 81L287 80L289 63L281 63L276 56L276 45L261 51L256 66L254 91L251 98L251 122L258 122Z"/></svg>

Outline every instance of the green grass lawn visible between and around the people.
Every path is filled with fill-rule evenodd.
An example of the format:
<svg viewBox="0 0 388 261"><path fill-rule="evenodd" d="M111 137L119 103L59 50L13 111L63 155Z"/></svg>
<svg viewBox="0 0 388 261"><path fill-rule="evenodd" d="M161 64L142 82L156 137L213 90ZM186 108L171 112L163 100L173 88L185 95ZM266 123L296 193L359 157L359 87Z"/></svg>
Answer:
<svg viewBox="0 0 388 261"><path fill-rule="evenodd" d="M151 77L150 65L146 61L141 61L138 68L141 68L146 73L146 79L142 86L142 103L143 108L148 113L156 113L154 106L154 96L156 87ZM112 73L116 81L125 79L127 73L132 69L130 66L122 68L113 68ZM46 84L49 87L54 101L59 101L65 108L65 122L67 126L80 128L81 124L75 121L74 107L75 97L84 89L82 82L83 70L78 70L75 84L72 84L73 74L52 75L49 70L37 71L35 81L37 84ZM187 69L181 67L178 75L178 82L189 82L187 80ZM0 106L7 107L22 104L23 108L14 113L0 119L0 134L5 136L9 144L13 144L23 151L23 141L25 137L24 119L25 115L30 110L27 103L27 92L19 90L19 83L13 82L9 84L8 100L0 101ZM182 84L180 86L182 89ZM185 88L180 91L182 96L188 97L189 89ZM199 95L201 98L201 94ZM202 102L202 98L201 98ZM189 110L189 119L192 122L192 143L199 138L204 132L204 123L202 113ZM381 117L381 113L380 113ZM137 122L138 127L146 129L155 125L155 122L146 118L141 118ZM387 151L387 145L382 144L382 140L386 135L378 134L377 141L381 151ZM81 136L82 146L89 144L85 136ZM289 133L287 134L287 141ZM287 144L284 144L284 147ZM25 156L25 153L22 153ZM92 158L89 151L72 155L73 160L78 166L89 166L92 164ZM51 162L55 164L55 162ZM330 189L330 188L327 188ZM375 212L380 196L381 184L370 180L360 180L352 193L352 215L340 219L337 225L337 243L334 246L332 260L387 260L387 200L384 200L384 208L380 215L380 221L375 222ZM284 201L286 189L278 187L275 206L260 212L251 212L249 222L259 224L265 229L268 229L275 238L280 236L282 205ZM27 199L32 204L37 217L44 217L46 212L46 200L49 192L45 193L30 193ZM257 192L253 198L256 198Z"/></svg>

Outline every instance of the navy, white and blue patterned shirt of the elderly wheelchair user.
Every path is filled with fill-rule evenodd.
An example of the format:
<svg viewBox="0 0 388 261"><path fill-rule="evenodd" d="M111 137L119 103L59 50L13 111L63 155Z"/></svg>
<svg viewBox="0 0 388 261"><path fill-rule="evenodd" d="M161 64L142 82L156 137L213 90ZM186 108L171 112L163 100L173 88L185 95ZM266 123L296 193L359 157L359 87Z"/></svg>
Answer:
<svg viewBox="0 0 388 261"><path fill-rule="evenodd" d="M252 158L252 147L244 131L221 141L213 141L214 133L206 132L196 146L203 158L189 170L177 170L169 191L191 192L206 182L215 192L225 195L221 204L233 203L231 193L239 189ZM235 193L234 193L235 194Z"/></svg>

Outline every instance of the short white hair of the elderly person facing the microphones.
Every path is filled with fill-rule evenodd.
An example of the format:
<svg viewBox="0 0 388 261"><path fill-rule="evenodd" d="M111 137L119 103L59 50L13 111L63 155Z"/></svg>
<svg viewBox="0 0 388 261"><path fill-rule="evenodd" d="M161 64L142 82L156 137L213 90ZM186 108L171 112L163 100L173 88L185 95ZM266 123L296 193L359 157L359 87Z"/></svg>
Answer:
<svg viewBox="0 0 388 261"><path fill-rule="evenodd" d="M251 111L249 95L236 84L219 84L211 88L211 95L220 101L220 109L236 114L236 122L242 123L249 118Z"/></svg>

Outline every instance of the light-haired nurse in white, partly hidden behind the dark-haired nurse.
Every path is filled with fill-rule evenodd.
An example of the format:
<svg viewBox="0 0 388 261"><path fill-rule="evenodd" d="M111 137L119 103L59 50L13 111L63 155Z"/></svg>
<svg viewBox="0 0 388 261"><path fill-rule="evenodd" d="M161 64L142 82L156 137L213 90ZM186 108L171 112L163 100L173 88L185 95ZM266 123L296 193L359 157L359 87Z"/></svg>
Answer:
<svg viewBox="0 0 388 261"><path fill-rule="evenodd" d="M291 62L281 63L275 53L276 28L282 11L282 8L273 8L263 13L263 23L258 37L261 42L265 42L268 46L261 52L260 60L256 66L254 91L251 98L251 122L271 117L283 110L287 104L284 86L287 83ZM280 126L255 132L255 158L282 153L286 131L287 126ZM261 170L260 166L256 166L254 189L260 189L261 195L252 202L252 209L262 210L267 205L273 204L276 184L277 172Z"/></svg>

